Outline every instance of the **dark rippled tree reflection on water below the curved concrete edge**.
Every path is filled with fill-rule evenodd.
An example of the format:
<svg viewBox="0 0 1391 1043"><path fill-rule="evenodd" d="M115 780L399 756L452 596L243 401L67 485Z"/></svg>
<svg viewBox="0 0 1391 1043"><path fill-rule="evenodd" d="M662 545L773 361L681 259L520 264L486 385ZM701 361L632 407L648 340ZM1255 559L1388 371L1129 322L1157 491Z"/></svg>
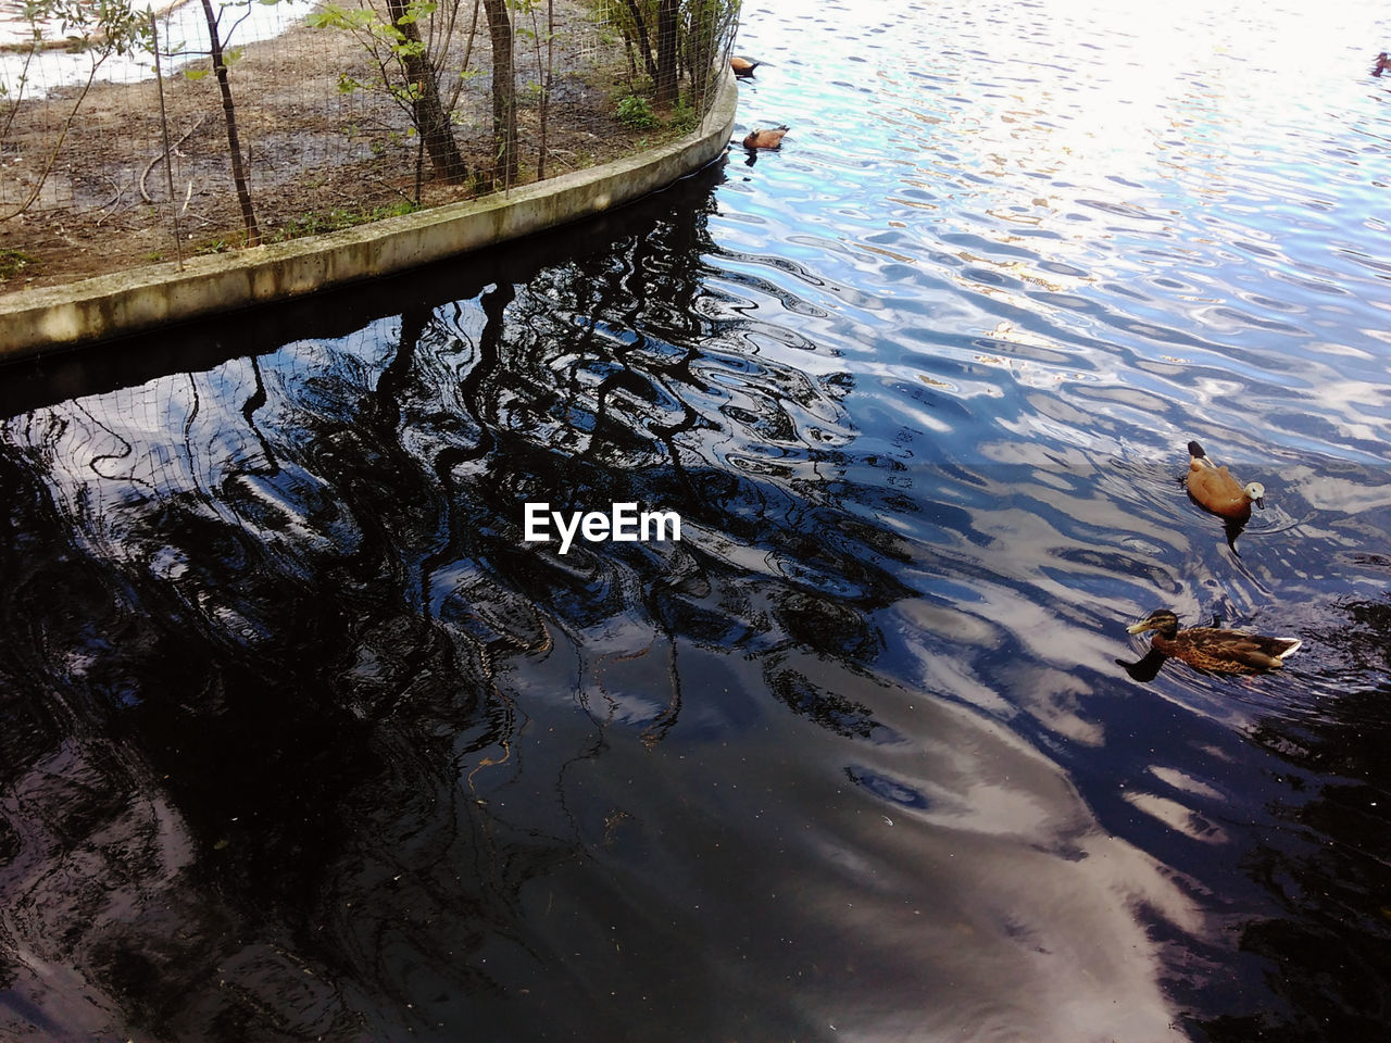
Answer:
<svg viewBox="0 0 1391 1043"><path fill-rule="evenodd" d="M818 488L849 441L833 381L741 385L697 346L700 228L7 424L11 1032L381 1039L430 1029L421 996L515 1003L554 957L523 886L623 823L591 836L566 776L615 722L651 745L680 718L679 638L868 720L776 652L871 656L901 588L864 548L894 541ZM721 414L765 458L707 456ZM702 551L561 558L520 542L527 499L659 505ZM583 709L548 720L554 763L522 752L519 684ZM602 1024L577 987L548 980L547 1018Z"/></svg>

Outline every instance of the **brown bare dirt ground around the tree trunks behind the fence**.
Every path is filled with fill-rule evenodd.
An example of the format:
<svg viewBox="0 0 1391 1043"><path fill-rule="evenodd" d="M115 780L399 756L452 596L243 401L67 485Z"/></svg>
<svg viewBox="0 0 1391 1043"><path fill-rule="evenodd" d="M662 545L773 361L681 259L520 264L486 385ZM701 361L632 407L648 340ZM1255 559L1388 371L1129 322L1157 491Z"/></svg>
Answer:
<svg viewBox="0 0 1391 1043"><path fill-rule="evenodd" d="M619 121L618 102L641 86L622 45L612 38L604 43L583 7L562 3L556 11L545 177L606 163L673 134L634 132ZM467 39L459 36L456 47L463 49ZM534 47L523 40L517 46ZM474 33L469 68L455 114L456 138L470 171L480 175L466 185L438 184L430 179L426 159L423 206L488 191L484 172L491 171L494 149L485 26ZM517 56L519 184L534 181L541 165L537 68L534 53ZM303 25L246 46L231 65L238 129L266 241L399 211L417 197L420 154L409 118L380 92L339 90L345 72L371 79L364 49L345 32ZM39 102L25 100L15 111L0 139L0 218L32 189L40 157L51 150L75 97L75 88L63 88ZM185 257L245 242L216 79L166 75L164 110L161 120L153 79L92 86L36 204L0 220L0 260L11 261L8 268L0 266L0 295L172 261L175 220L178 253ZM163 160L166 125L172 199Z"/></svg>

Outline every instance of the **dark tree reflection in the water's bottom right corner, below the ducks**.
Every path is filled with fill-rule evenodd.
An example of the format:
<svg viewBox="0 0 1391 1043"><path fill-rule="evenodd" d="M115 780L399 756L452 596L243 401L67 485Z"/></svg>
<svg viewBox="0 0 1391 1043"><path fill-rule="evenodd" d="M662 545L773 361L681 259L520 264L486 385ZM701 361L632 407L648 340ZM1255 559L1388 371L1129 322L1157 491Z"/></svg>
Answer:
<svg viewBox="0 0 1391 1043"><path fill-rule="evenodd" d="M1280 1005L1216 1019L1219 1042L1377 1039L1391 1024L1391 605L1342 612L1319 640L1348 684L1326 676L1314 711L1252 731L1288 770L1270 808L1277 837L1245 859L1278 912L1245 923L1241 947L1269 961Z"/></svg>

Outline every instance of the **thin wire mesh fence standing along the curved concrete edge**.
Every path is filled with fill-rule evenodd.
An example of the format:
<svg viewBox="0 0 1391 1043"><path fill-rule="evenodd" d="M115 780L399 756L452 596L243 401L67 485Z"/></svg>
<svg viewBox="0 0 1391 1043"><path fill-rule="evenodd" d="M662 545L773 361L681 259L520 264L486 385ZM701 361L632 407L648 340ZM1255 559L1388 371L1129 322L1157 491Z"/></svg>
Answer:
<svg viewBox="0 0 1391 1043"><path fill-rule="evenodd" d="M697 127L739 0L0 0L0 292L508 191Z"/></svg>

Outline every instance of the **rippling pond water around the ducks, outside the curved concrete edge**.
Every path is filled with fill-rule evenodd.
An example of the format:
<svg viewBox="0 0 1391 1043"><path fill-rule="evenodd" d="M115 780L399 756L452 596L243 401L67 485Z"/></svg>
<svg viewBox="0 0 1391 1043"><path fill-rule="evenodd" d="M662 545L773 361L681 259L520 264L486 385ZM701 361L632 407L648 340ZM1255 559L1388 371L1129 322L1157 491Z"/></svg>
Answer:
<svg viewBox="0 0 1391 1043"><path fill-rule="evenodd" d="M779 152L11 367L4 1033L1381 1037L1370 7L753 3Z"/></svg>

